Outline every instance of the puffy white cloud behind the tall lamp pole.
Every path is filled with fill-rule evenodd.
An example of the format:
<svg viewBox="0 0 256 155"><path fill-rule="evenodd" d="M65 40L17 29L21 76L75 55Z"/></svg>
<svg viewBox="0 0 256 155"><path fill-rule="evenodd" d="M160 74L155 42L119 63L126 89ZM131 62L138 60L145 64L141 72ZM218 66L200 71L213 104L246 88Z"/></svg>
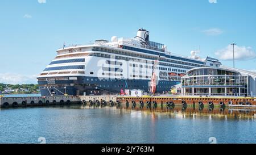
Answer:
<svg viewBox="0 0 256 155"><path fill-rule="evenodd" d="M234 51L236 60L250 60L256 57L256 53L251 47L238 47L235 45ZM228 45L228 47L218 50L215 55L221 60L233 60L233 45Z"/></svg>

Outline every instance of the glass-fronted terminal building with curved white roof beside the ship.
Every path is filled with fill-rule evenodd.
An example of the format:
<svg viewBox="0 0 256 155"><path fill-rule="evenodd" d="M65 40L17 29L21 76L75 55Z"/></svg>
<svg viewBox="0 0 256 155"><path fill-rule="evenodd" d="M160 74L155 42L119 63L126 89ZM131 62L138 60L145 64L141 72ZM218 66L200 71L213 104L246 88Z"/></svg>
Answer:
<svg viewBox="0 0 256 155"><path fill-rule="evenodd" d="M188 70L181 77L181 95L256 96L256 73L221 65Z"/></svg>

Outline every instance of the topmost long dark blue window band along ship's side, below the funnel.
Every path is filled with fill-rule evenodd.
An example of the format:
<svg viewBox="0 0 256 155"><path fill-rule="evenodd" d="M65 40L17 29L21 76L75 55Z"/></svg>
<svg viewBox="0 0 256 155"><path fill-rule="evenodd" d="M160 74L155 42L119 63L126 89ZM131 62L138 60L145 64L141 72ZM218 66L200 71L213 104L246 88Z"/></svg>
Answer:
<svg viewBox="0 0 256 155"><path fill-rule="evenodd" d="M112 50L112 49L107 49L107 48L95 48L94 47L94 48L92 48L92 51L108 52L108 53L114 53L114 54L119 54L119 55L146 58L146 59L150 59L150 60L156 60L156 58L157 58L157 57L154 57L154 56L140 55L138 53L123 52L123 51L117 51L117 50ZM115 57L119 58L118 56L115 56ZM204 65L204 62L200 62L200 61L196 61L194 63L199 63L199 64L202 64L202 65L192 64L190 62L195 61L195 60L188 60L186 58L180 58L180 57L176 57L176 56L170 56L170 58L174 58L176 60L182 60L182 61L170 60L170 59L163 58L163 57L160 57L160 60L161 61L166 61L166 62L172 62L172 63L176 63L176 64L189 65L189 66L202 66L202 65ZM131 58L131 59L133 59L133 58ZM125 57L125 60L130 60L130 58ZM183 61L190 61L190 62L183 62ZM152 62L152 63L154 63L154 62Z"/></svg>

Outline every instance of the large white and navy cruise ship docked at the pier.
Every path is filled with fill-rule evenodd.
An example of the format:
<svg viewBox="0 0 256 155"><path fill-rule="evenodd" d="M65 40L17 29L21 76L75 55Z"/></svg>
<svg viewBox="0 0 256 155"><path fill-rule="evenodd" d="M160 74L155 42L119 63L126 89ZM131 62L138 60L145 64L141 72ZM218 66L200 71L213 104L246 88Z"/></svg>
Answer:
<svg viewBox="0 0 256 155"><path fill-rule="evenodd" d="M216 58L200 58L197 51L189 57L176 55L166 45L150 41L149 34L141 28L131 39L113 36L111 41L63 45L37 77L42 96L100 95L127 89L148 92L153 70L156 93L165 93L188 70L221 65Z"/></svg>

